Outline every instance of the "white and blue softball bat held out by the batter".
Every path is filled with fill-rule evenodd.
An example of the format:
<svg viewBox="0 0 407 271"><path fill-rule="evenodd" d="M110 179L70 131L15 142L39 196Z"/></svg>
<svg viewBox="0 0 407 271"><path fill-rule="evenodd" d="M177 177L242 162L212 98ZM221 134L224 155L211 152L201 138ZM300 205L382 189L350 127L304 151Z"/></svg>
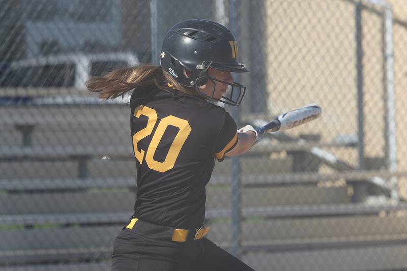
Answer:
<svg viewBox="0 0 407 271"><path fill-rule="evenodd" d="M257 136L263 135L266 132L277 132L291 129L310 122L321 115L322 109L317 104L309 104L307 106L288 111L279 115L272 122L265 126L257 127L254 130Z"/></svg>

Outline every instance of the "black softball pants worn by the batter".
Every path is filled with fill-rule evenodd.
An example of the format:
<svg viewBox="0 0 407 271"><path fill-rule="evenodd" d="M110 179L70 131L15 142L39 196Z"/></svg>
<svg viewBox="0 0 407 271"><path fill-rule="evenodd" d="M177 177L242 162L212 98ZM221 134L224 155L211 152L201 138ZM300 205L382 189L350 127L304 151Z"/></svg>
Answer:
<svg viewBox="0 0 407 271"><path fill-rule="evenodd" d="M254 271L209 239L171 240L173 228L137 221L115 238L113 271Z"/></svg>

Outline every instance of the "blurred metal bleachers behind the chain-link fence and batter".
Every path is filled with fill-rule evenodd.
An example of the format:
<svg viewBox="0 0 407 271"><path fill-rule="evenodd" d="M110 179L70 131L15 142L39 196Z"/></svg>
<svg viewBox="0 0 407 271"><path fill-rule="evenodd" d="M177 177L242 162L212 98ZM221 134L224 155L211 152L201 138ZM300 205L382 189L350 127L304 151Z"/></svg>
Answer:
<svg viewBox="0 0 407 271"><path fill-rule="evenodd" d="M109 270L137 189L129 107L8 105L0 114L0 270ZM357 171L315 152L354 145L267 140L240 159L244 261L256 270L272 269L265 263L287 270L407 268L407 217L398 215L407 204L370 202L366 194L373 187L386 199L390 188L372 180L388 178L386 170ZM271 155L281 152L287 155ZM318 173L321 165L334 173ZM217 163L207 186L208 238L225 249L230 170L231 159Z"/></svg>

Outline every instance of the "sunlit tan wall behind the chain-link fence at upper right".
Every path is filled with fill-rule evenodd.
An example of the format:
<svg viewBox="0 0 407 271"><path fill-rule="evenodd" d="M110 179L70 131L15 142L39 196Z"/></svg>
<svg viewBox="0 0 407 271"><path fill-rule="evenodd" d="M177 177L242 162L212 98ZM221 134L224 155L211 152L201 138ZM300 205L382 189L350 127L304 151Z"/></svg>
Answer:
<svg viewBox="0 0 407 271"><path fill-rule="evenodd" d="M394 24L395 121L399 170L405 170L407 2L389 2L398 20ZM369 7L380 11L378 7ZM266 1L265 8L270 112L276 115L316 102L323 107L320 121L289 134L318 133L325 142L331 142L339 134L356 134L355 4L342 0ZM384 157L386 105L382 18L364 9L362 35L365 155ZM358 165L356 149L330 150L348 163ZM402 190L400 188L400 192Z"/></svg>

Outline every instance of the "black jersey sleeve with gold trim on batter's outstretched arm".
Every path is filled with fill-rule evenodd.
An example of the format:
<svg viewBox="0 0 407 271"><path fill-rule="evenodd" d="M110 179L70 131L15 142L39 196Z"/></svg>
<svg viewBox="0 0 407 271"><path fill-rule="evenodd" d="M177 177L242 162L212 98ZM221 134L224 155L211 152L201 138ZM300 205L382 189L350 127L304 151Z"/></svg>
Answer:
<svg viewBox="0 0 407 271"><path fill-rule="evenodd" d="M222 128L215 140L215 157L222 162L225 154L238 143L238 133L235 120L225 112Z"/></svg>

